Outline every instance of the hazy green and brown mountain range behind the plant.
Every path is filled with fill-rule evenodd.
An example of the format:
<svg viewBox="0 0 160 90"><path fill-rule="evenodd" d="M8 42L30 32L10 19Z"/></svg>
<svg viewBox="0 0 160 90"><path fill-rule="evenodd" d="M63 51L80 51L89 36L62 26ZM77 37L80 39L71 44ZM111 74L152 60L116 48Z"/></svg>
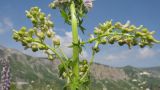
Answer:
<svg viewBox="0 0 160 90"><path fill-rule="evenodd" d="M58 60L51 62L0 46L0 56L6 55L11 69L11 90L62 90L64 81L58 77ZM115 68L94 63L90 90L160 90L160 67Z"/></svg>

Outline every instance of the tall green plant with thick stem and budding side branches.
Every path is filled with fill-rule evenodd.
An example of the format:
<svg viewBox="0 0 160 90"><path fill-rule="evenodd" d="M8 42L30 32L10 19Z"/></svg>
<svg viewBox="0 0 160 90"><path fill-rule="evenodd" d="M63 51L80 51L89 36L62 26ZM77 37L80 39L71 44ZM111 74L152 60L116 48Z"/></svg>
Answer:
<svg viewBox="0 0 160 90"><path fill-rule="evenodd" d="M129 22L122 24L112 20L99 24L94 28L94 33L87 41L79 39L78 30L85 34L85 28L82 26L83 17L92 8L92 0L55 0L49 4L52 9L58 9L65 23L72 28L72 43L70 48L73 49L71 58L67 57L60 49L60 39L55 37L53 27L54 23L50 20L50 15L41 12L38 7L32 7L26 11L26 16L31 20L33 27L27 29L22 27L19 31L14 30L13 39L22 43L25 49L32 49L33 52L45 51L49 60L58 58L61 64L59 76L66 79L64 90L88 90L90 81L90 67L93 63L94 56L100 51L99 45L118 43L120 46L145 46L152 47L155 43L160 43L153 37L154 32L148 31L144 26L136 27ZM46 44L49 38L53 46ZM80 60L79 55L83 51L83 46L93 44L92 57L90 60Z"/></svg>

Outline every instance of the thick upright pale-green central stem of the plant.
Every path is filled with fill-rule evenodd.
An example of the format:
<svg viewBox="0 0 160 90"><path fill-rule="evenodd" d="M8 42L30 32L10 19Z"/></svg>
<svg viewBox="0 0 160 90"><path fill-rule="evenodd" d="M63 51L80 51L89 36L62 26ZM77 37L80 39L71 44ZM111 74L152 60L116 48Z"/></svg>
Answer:
<svg viewBox="0 0 160 90"><path fill-rule="evenodd" d="M79 47L78 44L78 28L77 28L77 18L76 18L76 11L75 11L75 5L74 2L71 3L70 6L71 10L71 25L72 25L72 37L73 37L73 43L75 44L73 46L73 82L72 82L72 90L76 90L78 87L78 79L79 79Z"/></svg>

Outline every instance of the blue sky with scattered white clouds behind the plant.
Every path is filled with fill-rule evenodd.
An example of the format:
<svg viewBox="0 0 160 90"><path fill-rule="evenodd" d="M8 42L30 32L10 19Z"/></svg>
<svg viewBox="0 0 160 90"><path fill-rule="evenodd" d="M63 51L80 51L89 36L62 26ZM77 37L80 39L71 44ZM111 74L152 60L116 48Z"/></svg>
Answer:
<svg viewBox="0 0 160 90"><path fill-rule="evenodd" d="M22 26L32 27L31 22L25 17L25 10L32 6L38 6L46 14L51 14L55 23L54 30L63 44L62 49L71 55L71 49L67 46L71 42L71 28L64 23L58 10L52 10L48 4L52 0L1 0L0 2L0 45L18 49L26 54L41 56L40 53L32 53L31 50L23 50L20 43L12 40L12 29L20 29ZM144 25L150 31L156 31L155 38L160 40L160 0L95 0L93 8L84 18L83 25L86 27L85 35L80 33L84 39L93 33L94 27L106 20L125 23L130 21L136 26ZM90 58L91 45L84 48L82 57ZM68 53L70 52L70 53ZM160 45L153 48L140 49L127 46L115 45L101 46L101 51L96 55L95 62L121 67L131 65L135 67L160 66Z"/></svg>

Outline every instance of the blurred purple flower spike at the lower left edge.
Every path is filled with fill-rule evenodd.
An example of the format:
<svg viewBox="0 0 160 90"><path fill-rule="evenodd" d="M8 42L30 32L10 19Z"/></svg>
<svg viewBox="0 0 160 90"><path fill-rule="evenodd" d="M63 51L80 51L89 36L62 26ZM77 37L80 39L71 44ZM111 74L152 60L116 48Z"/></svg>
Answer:
<svg viewBox="0 0 160 90"><path fill-rule="evenodd" d="M10 90L10 67L6 58L0 58L2 64L0 90Z"/></svg>

